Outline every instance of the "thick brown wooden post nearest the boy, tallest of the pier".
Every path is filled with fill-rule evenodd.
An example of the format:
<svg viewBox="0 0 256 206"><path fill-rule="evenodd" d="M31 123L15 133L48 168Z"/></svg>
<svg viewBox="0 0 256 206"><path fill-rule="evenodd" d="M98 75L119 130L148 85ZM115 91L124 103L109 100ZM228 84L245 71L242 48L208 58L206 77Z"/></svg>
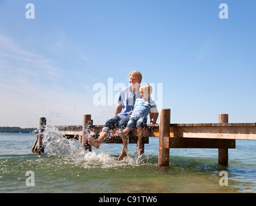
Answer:
<svg viewBox="0 0 256 206"><path fill-rule="evenodd" d="M171 110L161 109L159 122L159 156L158 165L169 167L170 149L164 148L164 136L170 136Z"/></svg>

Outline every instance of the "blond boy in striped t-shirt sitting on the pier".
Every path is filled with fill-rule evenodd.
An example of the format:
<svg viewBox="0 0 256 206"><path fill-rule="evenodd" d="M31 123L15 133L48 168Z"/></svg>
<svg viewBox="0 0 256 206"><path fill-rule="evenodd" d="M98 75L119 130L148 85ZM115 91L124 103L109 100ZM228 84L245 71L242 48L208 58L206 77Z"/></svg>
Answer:
<svg viewBox="0 0 256 206"><path fill-rule="evenodd" d="M155 124L159 115L155 102L150 100L152 86L149 84L143 84L139 91L141 93L141 98L137 98L135 100L134 109L126 128L123 131L117 131L117 133L123 139L123 149L118 158L119 161L123 160L123 158L127 156L126 151L128 149L128 133L133 130L135 126L137 126L138 131L137 153L142 153L143 127L146 125L148 114L150 113L150 124Z"/></svg>

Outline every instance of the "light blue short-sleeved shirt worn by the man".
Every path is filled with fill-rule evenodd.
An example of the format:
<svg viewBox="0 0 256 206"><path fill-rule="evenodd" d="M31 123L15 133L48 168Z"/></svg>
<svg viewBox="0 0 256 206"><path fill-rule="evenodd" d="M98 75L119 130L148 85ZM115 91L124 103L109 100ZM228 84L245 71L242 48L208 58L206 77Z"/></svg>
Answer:
<svg viewBox="0 0 256 206"><path fill-rule="evenodd" d="M139 89L137 90L135 95L133 95L132 86L128 86L127 88L121 90L118 99L118 104L121 104L123 106L121 113L118 114L121 119L132 115L133 106L137 98L141 98L141 93L139 92Z"/></svg>

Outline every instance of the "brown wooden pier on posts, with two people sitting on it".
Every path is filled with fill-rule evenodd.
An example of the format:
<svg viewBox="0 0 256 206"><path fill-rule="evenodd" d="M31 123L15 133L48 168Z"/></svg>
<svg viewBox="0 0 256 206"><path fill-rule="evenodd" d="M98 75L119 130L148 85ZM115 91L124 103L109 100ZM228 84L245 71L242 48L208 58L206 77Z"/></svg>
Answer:
<svg viewBox="0 0 256 206"><path fill-rule="evenodd" d="M206 124L170 124L170 109L162 109L159 124L148 124L143 133L144 144L149 144L149 136L159 137L160 167L170 165L171 148L217 148L219 149L219 164L228 165L228 149L235 148L235 140L256 140L256 123L228 123L228 115L220 114L219 123ZM34 153L44 153L42 144L46 118L40 118L39 134L36 135L32 147ZM88 135L97 138L103 125L94 125L91 115L83 115L82 126L55 126L65 138L76 138L84 149L92 151L88 144ZM118 128L103 143L122 144L123 141L116 134ZM129 143L137 143L137 131L129 136Z"/></svg>

